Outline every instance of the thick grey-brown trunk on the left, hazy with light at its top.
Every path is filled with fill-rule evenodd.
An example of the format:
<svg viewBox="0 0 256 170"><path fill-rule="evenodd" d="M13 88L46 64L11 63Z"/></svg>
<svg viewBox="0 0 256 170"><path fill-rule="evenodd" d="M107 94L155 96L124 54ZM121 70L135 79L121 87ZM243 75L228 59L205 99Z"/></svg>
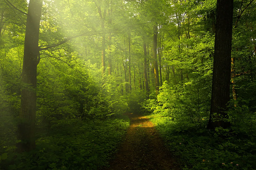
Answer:
<svg viewBox="0 0 256 170"><path fill-rule="evenodd" d="M20 123L17 144L20 152L35 148L36 71L39 55L39 26L42 0L30 0L26 22L21 92Z"/></svg>

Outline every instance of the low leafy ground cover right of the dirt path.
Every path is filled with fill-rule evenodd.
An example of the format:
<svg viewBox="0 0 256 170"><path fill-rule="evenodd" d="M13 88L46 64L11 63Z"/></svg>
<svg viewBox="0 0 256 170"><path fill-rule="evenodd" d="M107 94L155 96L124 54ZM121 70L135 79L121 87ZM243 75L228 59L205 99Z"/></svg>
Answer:
<svg viewBox="0 0 256 170"><path fill-rule="evenodd" d="M254 140L235 128L213 132L206 129L206 120L189 123L162 114L148 117L156 124L167 147L180 158L183 170L256 169Z"/></svg>

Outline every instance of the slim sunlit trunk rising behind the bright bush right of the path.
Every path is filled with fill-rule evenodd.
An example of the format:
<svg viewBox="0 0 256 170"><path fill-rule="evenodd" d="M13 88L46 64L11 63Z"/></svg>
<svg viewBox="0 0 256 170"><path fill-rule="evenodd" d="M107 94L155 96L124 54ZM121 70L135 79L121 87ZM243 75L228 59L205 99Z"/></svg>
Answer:
<svg viewBox="0 0 256 170"><path fill-rule="evenodd" d="M159 91L159 74L157 64L157 25L153 26L153 64L154 64L154 78L155 78L155 90Z"/></svg>

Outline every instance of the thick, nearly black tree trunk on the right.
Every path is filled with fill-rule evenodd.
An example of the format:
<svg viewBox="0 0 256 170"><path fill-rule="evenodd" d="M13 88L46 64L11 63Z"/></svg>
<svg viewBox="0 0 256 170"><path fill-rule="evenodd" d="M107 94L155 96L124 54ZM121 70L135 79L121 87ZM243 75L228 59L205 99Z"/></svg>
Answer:
<svg viewBox="0 0 256 170"><path fill-rule="evenodd" d="M226 104L230 99L232 23L233 0L217 0L212 98L210 119L207 126L209 129L230 126L230 123L221 120L221 117L227 118Z"/></svg>

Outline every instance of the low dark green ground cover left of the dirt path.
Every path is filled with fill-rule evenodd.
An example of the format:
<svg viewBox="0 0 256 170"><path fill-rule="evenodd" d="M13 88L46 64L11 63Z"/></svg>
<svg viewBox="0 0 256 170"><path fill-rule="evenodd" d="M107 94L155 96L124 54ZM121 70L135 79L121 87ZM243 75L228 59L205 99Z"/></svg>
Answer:
<svg viewBox="0 0 256 170"><path fill-rule="evenodd" d="M36 140L36 149L30 152L16 153L15 146L1 146L5 151L0 169L97 169L107 165L128 127L128 117L59 120Z"/></svg>

